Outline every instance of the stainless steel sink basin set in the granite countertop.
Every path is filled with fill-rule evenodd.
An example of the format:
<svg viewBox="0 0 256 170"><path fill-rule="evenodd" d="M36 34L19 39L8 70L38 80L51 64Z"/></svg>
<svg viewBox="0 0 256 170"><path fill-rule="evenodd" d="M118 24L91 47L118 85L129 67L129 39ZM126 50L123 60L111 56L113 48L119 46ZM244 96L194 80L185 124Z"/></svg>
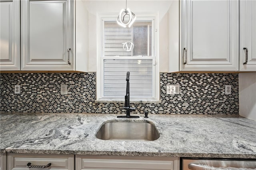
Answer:
<svg viewBox="0 0 256 170"><path fill-rule="evenodd" d="M108 122L104 123L96 137L102 140L146 140L160 137L155 125L148 122Z"/></svg>

